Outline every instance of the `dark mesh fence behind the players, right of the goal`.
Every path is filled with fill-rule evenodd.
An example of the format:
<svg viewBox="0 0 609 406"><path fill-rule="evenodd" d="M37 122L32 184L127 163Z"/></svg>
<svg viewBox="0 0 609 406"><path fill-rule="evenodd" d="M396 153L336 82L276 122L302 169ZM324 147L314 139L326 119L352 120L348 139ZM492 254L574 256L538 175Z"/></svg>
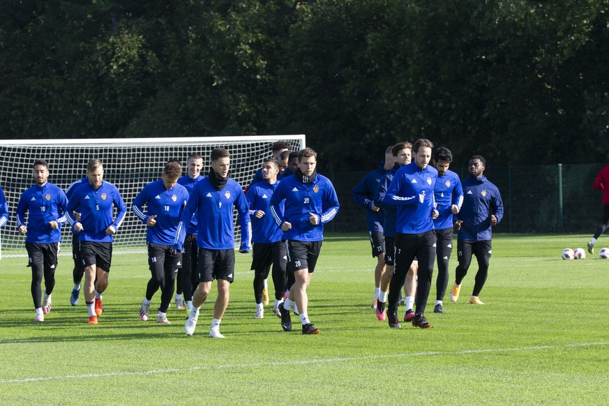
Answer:
<svg viewBox="0 0 609 406"><path fill-rule="evenodd" d="M488 180L499 188L504 218L495 232L594 233L601 220L602 193L592 188L601 164L488 167ZM370 168L373 170L373 168ZM451 167L467 177L467 168ZM352 190L367 172L331 172L340 211L326 230L366 232L366 212ZM323 174L323 173L322 173Z"/></svg>

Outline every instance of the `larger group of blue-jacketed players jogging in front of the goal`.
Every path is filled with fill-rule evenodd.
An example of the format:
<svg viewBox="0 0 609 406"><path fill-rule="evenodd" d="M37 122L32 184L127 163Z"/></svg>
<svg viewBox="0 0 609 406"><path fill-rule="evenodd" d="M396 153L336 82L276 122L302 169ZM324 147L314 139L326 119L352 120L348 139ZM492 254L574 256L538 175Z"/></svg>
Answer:
<svg viewBox="0 0 609 406"><path fill-rule="evenodd" d="M218 296L209 336L224 338L220 321L234 280L236 209L241 225L239 252L248 253L250 240L253 241L255 318L264 317L262 291L266 290L266 277L272 266L273 311L280 317L283 329L292 329L290 311L295 310L303 334L319 333L308 318L306 288L321 250L323 225L338 213L338 198L329 179L316 172L317 153L310 148L298 152L288 148L286 142L273 145L273 158L264 161L247 197L239 183L229 178L230 153L221 148L211 151L206 176L200 174L203 158L195 153L188 157L185 176L181 176L179 160L170 160L161 179L142 188L131 210L146 225L151 271L140 307L143 321L148 319L153 295L160 289L156 321L171 324L167 308L177 278L176 307L190 310L184 330L192 335L211 283L217 280ZM47 181L48 167L45 160L34 163L35 184L22 193L17 206L17 226L20 234L26 235L28 266L32 269L35 321L43 322L52 307L61 225L67 222L74 233L70 303L77 305L84 276L89 324L98 324L112 264L113 235L126 215L126 204L116 186L103 180L103 163L98 159L89 161L87 176L70 185L66 193ZM0 193L0 226L7 219L8 206ZM43 276L45 292L41 300Z"/></svg>

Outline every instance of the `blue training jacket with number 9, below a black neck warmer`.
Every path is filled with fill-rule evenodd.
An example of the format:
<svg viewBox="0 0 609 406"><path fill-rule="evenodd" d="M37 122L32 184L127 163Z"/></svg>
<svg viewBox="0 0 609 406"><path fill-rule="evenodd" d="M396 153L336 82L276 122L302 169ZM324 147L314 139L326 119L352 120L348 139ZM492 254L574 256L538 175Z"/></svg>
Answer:
<svg viewBox="0 0 609 406"><path fill-rule="evenodd" d="M197 246L209 250L234 249L233 206L239 213L241 224L241 248L250 250L250 212L248 202L239 183L228 179L221 190L211 186L209 178L197 182L193 193L188 197L186 208L178 225L174 248L183 251L186 239L186 226L193 214L197 213Z"/></svg>

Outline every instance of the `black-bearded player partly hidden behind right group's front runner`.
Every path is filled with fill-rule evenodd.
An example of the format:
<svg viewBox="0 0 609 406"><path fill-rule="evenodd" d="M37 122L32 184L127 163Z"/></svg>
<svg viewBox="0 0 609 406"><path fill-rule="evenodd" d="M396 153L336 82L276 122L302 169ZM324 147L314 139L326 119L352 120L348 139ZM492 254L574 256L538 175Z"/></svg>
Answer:
<svg viewBox="0 0 609 406"><path fill-rule="evenodd" d="M449 170L453 154L440 146L433 151L433 166L437 170L437 181L433 188L438 216L433 220L437 236L437 279L433 313L446 313L442 301L449 284L449 260L453 253L453 215L459 213L463 204L463 188L459 176Z"/></svg>

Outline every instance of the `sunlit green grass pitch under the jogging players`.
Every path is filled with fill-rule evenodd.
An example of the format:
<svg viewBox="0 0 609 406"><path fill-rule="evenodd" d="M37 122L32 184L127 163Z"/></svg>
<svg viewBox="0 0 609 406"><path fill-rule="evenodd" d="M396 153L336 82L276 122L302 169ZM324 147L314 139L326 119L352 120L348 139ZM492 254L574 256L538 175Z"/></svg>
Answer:
<svg viewBox="0 0 609 406"><path fill-rule="evenodd" d="M309 292L319 336L281 329L271 307L253 319L250 255L237 255L223 318L225 340L207 337L211 307L194 336L185 312L171 325L137 315L149 271L146 255L114 255L105 312L87 324L84 299L68 301L70 257L60 257L53 308L33 322L25 258L0 261L2 404L577 404L609 403L609 260L563 261L563 248L588 236L495 236L486 303L444 298L433 329L389 329L369 303L373 259L364 235L326 238ZM603 237L604 238L604 237ZM601 238L600 244L606 241ZM602 245L597 244L597 250ZM451 259L451 282L456 253ZM269 281L270 282L270 281ZM435 279L434 279L435 283ZM160 292L153 299L153 308ZM403 313L403 307L400 313Z"/></svg>

